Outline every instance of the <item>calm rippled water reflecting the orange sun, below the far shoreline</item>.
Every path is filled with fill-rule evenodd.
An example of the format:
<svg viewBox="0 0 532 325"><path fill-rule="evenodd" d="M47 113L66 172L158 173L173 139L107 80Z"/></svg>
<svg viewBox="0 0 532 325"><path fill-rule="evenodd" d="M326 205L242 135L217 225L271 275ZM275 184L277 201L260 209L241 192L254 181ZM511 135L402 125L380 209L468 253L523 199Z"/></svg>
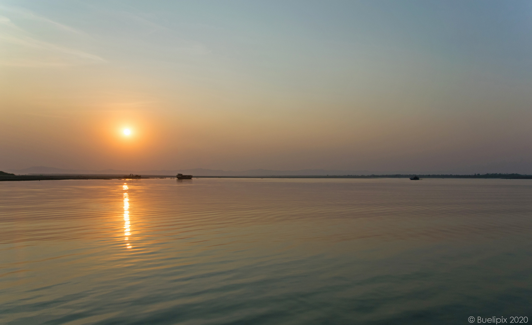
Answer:
<svg viewBox="0 0 532 325"><path fill-rule="evenodd" d="M531 197L504 179L2 182L0 323L532 322Z"/></svg>

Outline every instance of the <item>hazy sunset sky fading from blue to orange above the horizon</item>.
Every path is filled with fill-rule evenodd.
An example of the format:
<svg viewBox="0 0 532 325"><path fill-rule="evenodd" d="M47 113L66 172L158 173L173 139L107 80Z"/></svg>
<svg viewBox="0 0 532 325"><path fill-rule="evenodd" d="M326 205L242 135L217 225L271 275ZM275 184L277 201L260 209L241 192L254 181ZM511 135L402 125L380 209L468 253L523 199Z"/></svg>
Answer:
<svg viewBox="0 0 532 325"><path fill-rule="evenodd" d="M0 113L0 170L532 172L532 2L0 0Z"/></svg>

